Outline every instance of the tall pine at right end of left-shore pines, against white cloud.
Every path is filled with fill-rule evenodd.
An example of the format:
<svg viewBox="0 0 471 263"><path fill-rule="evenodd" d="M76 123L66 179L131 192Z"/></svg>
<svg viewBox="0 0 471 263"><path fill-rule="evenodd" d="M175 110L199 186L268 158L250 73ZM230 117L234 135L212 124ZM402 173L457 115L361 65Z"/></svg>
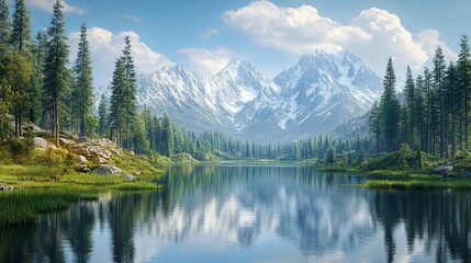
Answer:
<svg viewBox="0 0 471 263"><path fill-rule="evenodd" d="M134 59L131 54L131 38L126 36L125 47L123 49L123 68L124 68L124 108L125 108L125 125L127 135L127 150L131 150L131 125L137 111L136 101L136 72L134 69Z"/></svg>

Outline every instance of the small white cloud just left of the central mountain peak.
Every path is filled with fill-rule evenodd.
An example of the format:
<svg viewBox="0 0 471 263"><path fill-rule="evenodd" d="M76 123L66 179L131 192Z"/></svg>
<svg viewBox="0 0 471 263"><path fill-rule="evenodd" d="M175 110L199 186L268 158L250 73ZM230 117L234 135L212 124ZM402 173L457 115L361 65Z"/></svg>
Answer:
<svg viewBox="0 0 471 263"><path fill-rule="evenodd" d="M217 73L231 59L231 50L218 48L214 52L204 48L183 48L178 50L191 62L190 67L199 75Z"/></svg>

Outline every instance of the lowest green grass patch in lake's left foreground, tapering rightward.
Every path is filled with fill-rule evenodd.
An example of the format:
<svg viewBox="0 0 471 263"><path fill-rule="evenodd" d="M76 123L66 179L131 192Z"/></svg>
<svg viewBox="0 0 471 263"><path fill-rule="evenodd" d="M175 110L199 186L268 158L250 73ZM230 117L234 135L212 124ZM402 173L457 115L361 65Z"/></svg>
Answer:
<svg viewBox="0 0 471 263"><path fill-rule="evenodd" d="M0 193L0 226L35 222L43 213L68 208L80 199L97 199L98 195L74 191L20 190Z"/></svg>

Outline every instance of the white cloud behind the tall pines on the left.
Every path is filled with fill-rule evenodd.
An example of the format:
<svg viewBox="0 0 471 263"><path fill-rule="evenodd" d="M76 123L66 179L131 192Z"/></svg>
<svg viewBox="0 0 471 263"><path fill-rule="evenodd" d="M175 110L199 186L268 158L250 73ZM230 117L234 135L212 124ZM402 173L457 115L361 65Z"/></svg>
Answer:
<svg viewBox="0 0 471 263"><path fill-rule="evenodd" d="M90 43L91 59L93 62L93 78L97 84L105 84L111 80L114 62L122 55L124 37L131 37L132 54L134 57L137 73L152 73L162 66L172 62L161 54L150 49L141 41L138 34L134 32L121 32L113 34L100 27L88 30L88 41ZM69 35L70 61L77 57L77 45L80 39L80 32L72 32Z"/></svg>

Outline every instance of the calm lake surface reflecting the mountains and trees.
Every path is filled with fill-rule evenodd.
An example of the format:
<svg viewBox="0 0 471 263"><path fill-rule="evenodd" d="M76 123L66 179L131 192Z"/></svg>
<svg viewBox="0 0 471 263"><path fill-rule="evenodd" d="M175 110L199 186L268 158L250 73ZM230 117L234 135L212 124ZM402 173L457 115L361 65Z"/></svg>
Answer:
<svg viewBox="0 0 471 263"><path fill-rule="evenodd" d="M184 165L0 229L0 262L468 262L471 193L351 186L296 165ZM348 186L350 185L350 186Z"/></svg>

